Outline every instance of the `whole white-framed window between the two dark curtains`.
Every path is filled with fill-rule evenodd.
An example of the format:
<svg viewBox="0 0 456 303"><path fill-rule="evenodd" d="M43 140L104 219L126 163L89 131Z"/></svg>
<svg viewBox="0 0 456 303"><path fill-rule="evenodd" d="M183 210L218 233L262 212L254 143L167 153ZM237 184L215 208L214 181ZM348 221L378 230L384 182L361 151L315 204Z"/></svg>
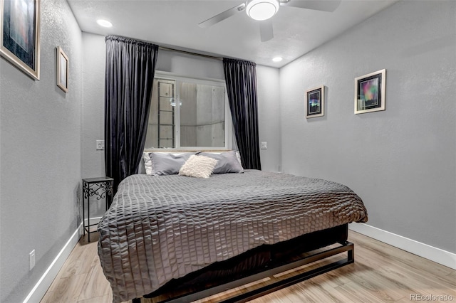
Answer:
<svg viewBox="0 0 456 303"><path fill-rule="evenodd" d="M157 73L145 149L231 148L231 116L223 81Z"/></svg>

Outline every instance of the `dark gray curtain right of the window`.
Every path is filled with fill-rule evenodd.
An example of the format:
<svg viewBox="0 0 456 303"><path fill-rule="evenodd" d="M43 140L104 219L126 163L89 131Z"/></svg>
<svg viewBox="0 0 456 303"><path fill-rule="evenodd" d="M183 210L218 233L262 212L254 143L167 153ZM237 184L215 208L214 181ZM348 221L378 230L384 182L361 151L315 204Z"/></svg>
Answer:
<svg viewBox="0 0 456 303"><path fill-rule="evenodd" d="M244 169L261 169L259 157L257 64L223 59L234 135Z"/></svg>

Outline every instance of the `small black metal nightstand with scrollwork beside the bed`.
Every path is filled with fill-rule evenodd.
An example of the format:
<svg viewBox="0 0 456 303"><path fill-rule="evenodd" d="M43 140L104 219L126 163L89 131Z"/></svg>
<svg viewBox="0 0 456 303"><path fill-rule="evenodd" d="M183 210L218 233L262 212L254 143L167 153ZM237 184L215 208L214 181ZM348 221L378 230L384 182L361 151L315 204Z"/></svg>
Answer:
<svg viewBox="0 0 456 303"><path fill-rule="evenodd" d="M110 206L113 198L113 178L110 177L99 177L99 178L88 178L83 179L83 230L84 235L88 235L88 242L90 242L90 197L95 196L97 200L106 198L106 210ZM87 225L86 225L86 199L87 199Z"/></svg>

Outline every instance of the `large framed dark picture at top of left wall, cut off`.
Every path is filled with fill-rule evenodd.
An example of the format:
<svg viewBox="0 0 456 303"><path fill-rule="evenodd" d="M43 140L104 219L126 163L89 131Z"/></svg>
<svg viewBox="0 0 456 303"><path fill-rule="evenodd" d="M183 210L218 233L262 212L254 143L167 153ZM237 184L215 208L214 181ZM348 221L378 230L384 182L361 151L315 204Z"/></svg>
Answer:
<svg viewBox="0 0 456 303"><path fill-rule="evenodd" d="M0 55L40 80L40 1L0 0Z"/></svg>

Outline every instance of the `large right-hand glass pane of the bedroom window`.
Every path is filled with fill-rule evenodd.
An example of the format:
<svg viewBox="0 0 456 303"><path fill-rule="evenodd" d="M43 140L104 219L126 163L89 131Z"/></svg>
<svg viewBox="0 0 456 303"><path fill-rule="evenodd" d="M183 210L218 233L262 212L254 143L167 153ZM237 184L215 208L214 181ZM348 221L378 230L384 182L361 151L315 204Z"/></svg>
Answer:
<svg viewBox="0 0 456 303"><path fill-rule="evenodd" d="M224 147L224 87L181 83L180 145Z"/></svg>

